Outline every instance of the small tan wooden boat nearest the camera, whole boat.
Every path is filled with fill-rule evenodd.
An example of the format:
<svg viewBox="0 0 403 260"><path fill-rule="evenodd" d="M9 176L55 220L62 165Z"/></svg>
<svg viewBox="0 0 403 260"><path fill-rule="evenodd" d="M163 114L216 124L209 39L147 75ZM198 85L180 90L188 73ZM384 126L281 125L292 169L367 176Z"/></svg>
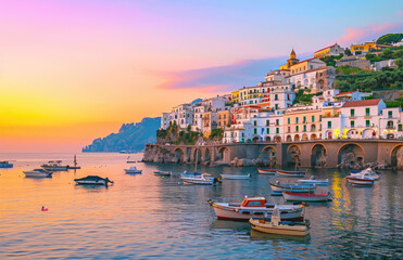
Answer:
<svg viewBox="0 0 403 260"><path fill-rule="evenodd" d="M281 221L280 210L275 207L270 219L251 218L251 227L268 234L305 236L310 234L311 224L308 220L304 222Z"/></svg>

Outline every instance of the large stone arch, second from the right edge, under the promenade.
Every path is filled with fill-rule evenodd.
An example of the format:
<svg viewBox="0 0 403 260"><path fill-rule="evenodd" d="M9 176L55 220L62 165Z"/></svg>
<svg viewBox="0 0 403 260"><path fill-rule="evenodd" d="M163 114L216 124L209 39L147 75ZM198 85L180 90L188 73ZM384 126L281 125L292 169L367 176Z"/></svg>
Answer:
<svg viewBox="0 0 403 260"><path fill-rule="evenodd" d="M345 143L337 152L338 165L347 169L364 167L365 150L358 143Z"/></svg>

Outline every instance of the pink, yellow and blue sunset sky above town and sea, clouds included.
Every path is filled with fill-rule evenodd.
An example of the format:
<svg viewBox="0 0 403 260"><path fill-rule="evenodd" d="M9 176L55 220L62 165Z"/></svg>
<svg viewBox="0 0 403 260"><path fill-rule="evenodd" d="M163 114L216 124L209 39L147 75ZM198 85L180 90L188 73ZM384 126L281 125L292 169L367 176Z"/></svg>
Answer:
<svg viewBox="0 0 403 260"><path fill-rule="evenodd" d="M292 48L402 31L402 1L0 0L0 153L78 152L255 84Z"/></svg>

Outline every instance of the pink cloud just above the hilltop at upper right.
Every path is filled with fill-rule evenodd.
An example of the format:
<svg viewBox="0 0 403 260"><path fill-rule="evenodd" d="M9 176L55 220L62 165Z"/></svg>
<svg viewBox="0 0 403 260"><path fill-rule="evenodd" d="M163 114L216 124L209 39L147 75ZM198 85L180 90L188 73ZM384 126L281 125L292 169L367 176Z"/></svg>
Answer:
<svg viewBox="0 0 403 260"><path fill-rule="evenodd" d="M403 30L403 23L383 23L369 24L363 27L349 27L345 29L345 35L341 36L337 41L343 46L378 39L385 34L401 32Z"/></svg>

